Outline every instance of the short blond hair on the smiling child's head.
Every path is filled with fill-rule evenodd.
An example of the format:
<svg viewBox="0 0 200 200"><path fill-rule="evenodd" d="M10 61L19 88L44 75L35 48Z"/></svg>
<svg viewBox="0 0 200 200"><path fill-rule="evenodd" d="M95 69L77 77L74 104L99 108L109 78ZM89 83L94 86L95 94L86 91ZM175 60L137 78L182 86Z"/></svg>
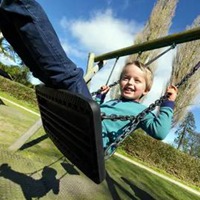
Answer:
<svg viewBox="0 0 200 200"><path fill-rule="evenodd" d="M152 73L151 69L148 66L145 66L143 63L141 63L138 60L129 61L129 62L127 62L125 64L125 66L123 67L122 72L120 74L120 80L122 79L124 69L128 65L135 65L135 66L139 67L145 73L146 90L150 91L151 87L152 87L152 84L153 84L153 73Z"/></svg>

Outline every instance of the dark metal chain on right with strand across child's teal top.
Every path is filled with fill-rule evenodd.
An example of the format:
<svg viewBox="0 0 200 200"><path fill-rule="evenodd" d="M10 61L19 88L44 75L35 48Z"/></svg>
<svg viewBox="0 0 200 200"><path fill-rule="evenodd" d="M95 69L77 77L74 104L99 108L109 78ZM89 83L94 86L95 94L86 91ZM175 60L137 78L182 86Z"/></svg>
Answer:
<svg viewBox="0 0 200 200"><path fill-rule="evenodd" d="M195 72L200 68L200 61L192 68L192 70L184 76L184 78L176 84L176 87L179 88L182 86L189 78L195 74ZM107 149L104 152L105 159L110 158L115 151L117 150L117 147L137 128L137 125L140 123L140 121L151 111L153 111L156 106L160 106L165 100L167 100L168 94L162 96L160 99L156 100L154 103L150 104L148 108L143 110L141 113L139 113L137 116L104 116L102 115L102 119L111 119L111 120L124 120L125 118L129 118L132 120L130 121L127 126L123 128L123 134L118 136L116 140L111 143ZM105 118L104 118L105 117ZM111 153L110 153L111 152Z"/></svg>

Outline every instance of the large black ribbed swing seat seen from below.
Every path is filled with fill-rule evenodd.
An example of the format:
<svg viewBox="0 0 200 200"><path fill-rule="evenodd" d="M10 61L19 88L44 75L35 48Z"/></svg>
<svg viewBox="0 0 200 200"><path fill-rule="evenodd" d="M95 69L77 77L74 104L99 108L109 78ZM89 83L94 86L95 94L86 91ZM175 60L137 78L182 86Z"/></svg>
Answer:
<svg viewBox="0 0 200 200"><path fill-rule="evenodd" d="M87 177L105 179L99 105L81 95L36 86L44 130L61 153Z"/></svg>

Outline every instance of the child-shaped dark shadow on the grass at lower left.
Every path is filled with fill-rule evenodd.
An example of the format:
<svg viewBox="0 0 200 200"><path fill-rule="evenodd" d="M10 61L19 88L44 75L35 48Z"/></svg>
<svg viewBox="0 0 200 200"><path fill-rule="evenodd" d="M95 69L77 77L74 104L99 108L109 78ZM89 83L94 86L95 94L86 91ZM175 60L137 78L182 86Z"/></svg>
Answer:
<svg viewBox="0 0 200 200"><path fill-rule="evenodd" d="M27 174L13 170L6 163L0 166L0 177L18 184L26 200L41 198L51 190L54 194L58 194L60 179L56 179L56 174L55 169L45 166L41 173L42 177L37 180Z"/></svg>

